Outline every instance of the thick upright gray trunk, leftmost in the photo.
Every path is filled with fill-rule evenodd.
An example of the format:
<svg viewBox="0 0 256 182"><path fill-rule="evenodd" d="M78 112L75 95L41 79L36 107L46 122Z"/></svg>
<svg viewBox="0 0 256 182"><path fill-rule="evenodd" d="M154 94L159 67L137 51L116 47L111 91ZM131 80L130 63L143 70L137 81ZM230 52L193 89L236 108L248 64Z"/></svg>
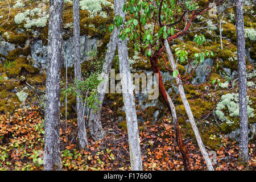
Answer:
<svg viewBox="0 0 256 182"><path fill-rule="evenodd" d="M60 160L60 62L63 26L63 0L49 6L48 64L44 123L44 170L61 169Z"/></svg>

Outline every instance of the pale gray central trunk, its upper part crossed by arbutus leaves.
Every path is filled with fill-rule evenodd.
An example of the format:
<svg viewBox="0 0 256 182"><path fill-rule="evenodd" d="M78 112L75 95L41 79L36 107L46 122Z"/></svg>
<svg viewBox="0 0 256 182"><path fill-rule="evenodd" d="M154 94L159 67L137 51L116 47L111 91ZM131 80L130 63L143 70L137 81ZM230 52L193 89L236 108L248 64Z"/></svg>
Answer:
<svg viewBox="0 0 256 182"><path fill-rule="evenodd" d="M122 17L125 22L125 13L123 13L124 0L114 0L115 15ZM139 129L137 122L137 113L133 96L133 82L131 80L130 65L128 61L127 39L118 39L119 70L121 75L123 102L125 105L126 123L129 140L131 170L142 170L141 147L139 139Z"/></svg>

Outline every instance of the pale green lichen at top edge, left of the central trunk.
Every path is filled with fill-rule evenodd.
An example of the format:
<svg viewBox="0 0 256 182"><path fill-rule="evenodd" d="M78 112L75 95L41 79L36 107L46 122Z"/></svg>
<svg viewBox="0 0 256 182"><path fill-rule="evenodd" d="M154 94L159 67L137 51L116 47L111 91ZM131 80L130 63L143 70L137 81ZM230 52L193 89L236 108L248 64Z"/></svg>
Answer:
<svg viewBox="0 0 256 182"><path fill-rule="evenodd" d="M106 13L102 13L102 6L110 6L114 9L113 4L106 0L82 0L80 1L80 6L82 10L89 11L91 18L96 15L100 15L103 18L107 17Z"/></svg>

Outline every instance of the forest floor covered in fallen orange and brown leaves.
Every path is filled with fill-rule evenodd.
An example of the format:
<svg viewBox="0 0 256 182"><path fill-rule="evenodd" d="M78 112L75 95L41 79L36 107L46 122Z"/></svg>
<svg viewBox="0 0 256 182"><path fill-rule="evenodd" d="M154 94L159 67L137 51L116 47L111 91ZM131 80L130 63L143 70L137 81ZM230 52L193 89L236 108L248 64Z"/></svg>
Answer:
<svg viewBox="0 0 256 182"><path fill-rule="evenodd" d="M37 106L23 107L9 115L0 115L0 171L43 169L42 111ZM108 106L102 110L102 125L106 137L94 141L88 137L88 150L79 150L77 123L61 121L60 146L63 170L129 170L129 145L125 127L113 119ZM139 137L144 170L183 170L181 154L176 144L174 128L168 117L154 124L139 123ZM89 134L88 134L89 135ZM207 170L195 139L187 144L192 170ZM210 151L210 148L207 148ZM216 170L255 170L255 144L249 144L249 162L238 160L238 143L222 140L216 158L211 156Z"/></svg>

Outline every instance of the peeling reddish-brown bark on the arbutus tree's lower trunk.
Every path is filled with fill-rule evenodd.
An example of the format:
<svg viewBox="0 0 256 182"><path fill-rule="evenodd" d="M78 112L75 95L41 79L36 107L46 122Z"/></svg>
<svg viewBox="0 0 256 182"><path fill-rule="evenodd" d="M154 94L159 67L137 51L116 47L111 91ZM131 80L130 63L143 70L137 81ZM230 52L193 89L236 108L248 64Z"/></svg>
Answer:
<svg viewBox="0 0 256 182"><path fill-rule="evenodd" d="M168 110L171 113L171 108L170 108L170 105L168 102L166 88L164 88L162 74L160 73L160 69L158 67L158 57L154 57L154 59L151 57L150 63L151 63L153 72L158 73L158 75L159 75L159 78L157 80L158 86L159 86L159 92L161 93L161 95L164 99L164 102L166 102ZM181 155L183 158L184 169L186 171L191 171L188 150L187 150L187 146L185 146L185 144L183 143L183 140L182 140L182 136L181 136L180 128L179 128L179 121L174 121L174 128L175 128L175 138L176 138L177 144L179 146L179 149L180 149L180 152L181 152Z"/></svg>

